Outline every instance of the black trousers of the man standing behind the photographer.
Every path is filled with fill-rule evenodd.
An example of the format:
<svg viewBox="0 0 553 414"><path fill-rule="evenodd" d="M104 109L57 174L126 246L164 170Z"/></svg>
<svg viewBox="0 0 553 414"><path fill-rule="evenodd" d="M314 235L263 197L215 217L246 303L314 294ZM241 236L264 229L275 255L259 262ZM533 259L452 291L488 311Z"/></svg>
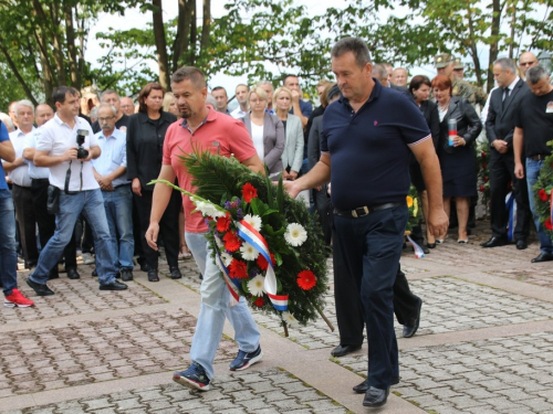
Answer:
<svg viewBox="0 0 553 414"><path fill-rule="evenodd" d="M36 224L39 225L39 237L40 245L42 248L45 247L50 237L54 235L55 231L55 215L50 214L46 209L48 204L48 179L43 180L32 180L32 208L34 211L34 216L36 219ZM76 242L75 237L71 237L71 241L65 246L63 251L65 257L65 268L76 268ZM58 267L53 267L50 270L51 276L58 274Z"/></svg>

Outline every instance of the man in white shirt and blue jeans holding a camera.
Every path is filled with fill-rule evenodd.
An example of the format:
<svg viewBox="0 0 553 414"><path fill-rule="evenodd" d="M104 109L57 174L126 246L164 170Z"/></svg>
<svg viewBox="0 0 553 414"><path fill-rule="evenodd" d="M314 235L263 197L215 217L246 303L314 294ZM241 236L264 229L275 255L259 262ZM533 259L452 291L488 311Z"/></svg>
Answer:
<svg viewBox="0 0 553 414"><path fill-rule="evenodd" d="M49 204L56 210L55 232L43 247L36 268L27 284L39 296L54 295L46 286L50 269L58 265L73 235L76 219L83 212L94 231L100 289L124 290L127 285L115 279L117 268L104 200L90 162L101 155L97 139L90 124L79 117L76 89L60 86L54 91L53 100L56 115L36 130L34 164L50 168Z"/></svg>

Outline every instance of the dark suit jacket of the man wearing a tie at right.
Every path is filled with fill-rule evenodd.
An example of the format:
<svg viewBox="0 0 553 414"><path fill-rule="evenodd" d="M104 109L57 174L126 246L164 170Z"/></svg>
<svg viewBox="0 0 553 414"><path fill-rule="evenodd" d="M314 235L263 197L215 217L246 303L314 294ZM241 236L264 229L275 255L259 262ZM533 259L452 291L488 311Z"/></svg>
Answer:
<svg viewBox="0 0 553 414"><path fill-rule="evenodd" d="M504 103L502 87L491 93L490 108L486 118L486 134L490 145L495 139L502 139L509 144L509 150L512 151L515 114L522 97L528 93L530 93L530 87L522 79L517 82Z"/></svg>

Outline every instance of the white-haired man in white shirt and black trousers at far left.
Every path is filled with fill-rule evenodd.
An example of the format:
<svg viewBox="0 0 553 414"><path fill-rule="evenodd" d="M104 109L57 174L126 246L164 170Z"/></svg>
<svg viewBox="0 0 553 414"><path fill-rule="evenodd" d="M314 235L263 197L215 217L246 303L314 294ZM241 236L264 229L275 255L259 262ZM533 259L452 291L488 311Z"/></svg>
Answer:
<svg viewBox="0 0 553 414"><path fill-rule="evenodd" d="M27 99L19 100L14 106L15 120L19 129L10 134L10 140L15 150L15 160L4 162L3 168L9 172L12 187L13 203L18 217L19 236L25 259L25 268L34 267L39 259L36 248L36 220L32 205L31 178L29 168L23 162L25 136L34 130L34 105Z"/></svg>

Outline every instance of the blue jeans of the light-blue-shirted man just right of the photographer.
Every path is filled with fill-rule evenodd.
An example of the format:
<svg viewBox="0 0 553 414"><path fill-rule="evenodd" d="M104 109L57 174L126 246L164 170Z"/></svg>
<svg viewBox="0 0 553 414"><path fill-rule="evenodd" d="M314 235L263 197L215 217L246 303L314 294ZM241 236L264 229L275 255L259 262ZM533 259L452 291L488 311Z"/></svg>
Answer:
<svg viewBox="0 0 553 414"><path fill-rule="evenodd" d="M133 269L135 240L133 235L133 192L131 184L119 185L113 191L102 191L107 225L112 235L114 265L122 269ZM117 235L119 236L117 241ZM117 247L118 245L118 247ZM118 254L117 254L118 252Z"/></svg>

